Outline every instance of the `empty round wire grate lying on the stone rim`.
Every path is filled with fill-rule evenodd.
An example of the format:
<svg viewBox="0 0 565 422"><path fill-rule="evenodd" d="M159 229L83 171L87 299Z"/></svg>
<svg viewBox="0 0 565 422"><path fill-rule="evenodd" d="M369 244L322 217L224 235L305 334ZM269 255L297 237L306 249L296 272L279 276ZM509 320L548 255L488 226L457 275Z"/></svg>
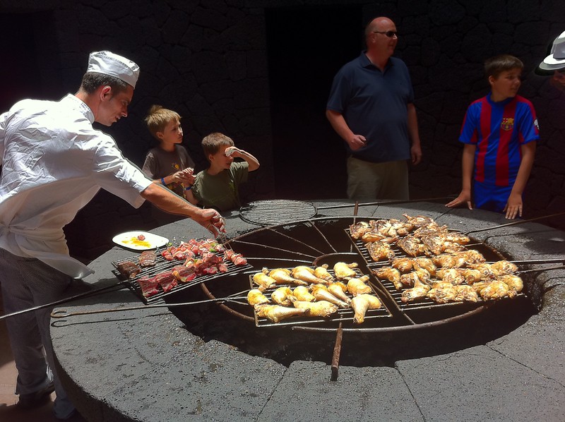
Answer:
<svg viewBox="0 0 565 422"><path fill-rule="evenodd" d="M239 209L239 217L244 222L271 226L309 219L317 214L314 204L301 200L258 200Z"/></svg>

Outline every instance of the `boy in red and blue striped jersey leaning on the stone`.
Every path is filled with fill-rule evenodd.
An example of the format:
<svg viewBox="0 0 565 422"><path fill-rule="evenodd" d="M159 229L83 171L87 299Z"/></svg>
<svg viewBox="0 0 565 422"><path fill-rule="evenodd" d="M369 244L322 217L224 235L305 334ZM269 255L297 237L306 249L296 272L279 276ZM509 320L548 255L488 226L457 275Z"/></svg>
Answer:
<svg viewBox="0 0 565 422"><path fill-rule="evenodd" d="M463 188L447 207L467 203L472 210L473 200L477 208L506 212L507 219L522 216L522 193L540 138L533 104L516 95L523 67L509 54L484 62L491 92L472 102L465 114L459 136L465 144Z"/></svg>

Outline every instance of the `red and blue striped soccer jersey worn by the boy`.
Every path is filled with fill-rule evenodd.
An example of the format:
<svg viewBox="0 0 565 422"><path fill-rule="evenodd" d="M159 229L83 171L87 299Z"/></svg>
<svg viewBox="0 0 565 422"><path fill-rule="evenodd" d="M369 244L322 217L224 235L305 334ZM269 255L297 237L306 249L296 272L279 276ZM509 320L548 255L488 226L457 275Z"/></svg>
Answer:
<svg viewBox="0 0 565 422"><path fill-rule="evenodd" d="M521 162L521 145L540 138L533 104L524 97L493 102L490 95L472 102L459 140L475 144L475 180L511 186Z"/></svg>

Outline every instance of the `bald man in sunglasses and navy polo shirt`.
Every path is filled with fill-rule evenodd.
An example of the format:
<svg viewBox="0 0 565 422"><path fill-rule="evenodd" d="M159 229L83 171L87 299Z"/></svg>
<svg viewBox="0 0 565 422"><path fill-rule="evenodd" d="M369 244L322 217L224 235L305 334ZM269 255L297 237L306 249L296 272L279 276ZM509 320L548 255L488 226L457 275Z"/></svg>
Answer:
<svg viewBox="0 0 565 422"><path fill-rule="evenodd" d="M408 199L408 163L422 159L408 68L392 57L396 25L375 18L365 28L367 50L333 79L326 116L345 140L347 196Z"/></svg>

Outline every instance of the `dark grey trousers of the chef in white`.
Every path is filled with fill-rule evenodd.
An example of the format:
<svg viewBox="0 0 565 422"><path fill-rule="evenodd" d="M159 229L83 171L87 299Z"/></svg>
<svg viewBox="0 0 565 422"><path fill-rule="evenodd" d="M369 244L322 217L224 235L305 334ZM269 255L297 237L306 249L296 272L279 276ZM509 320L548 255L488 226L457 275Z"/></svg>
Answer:
<svg viewBox="0 0 565 422"><path fill-rule="evenodd" d="M23 258L0 248L0 285L6 314L62 299L71 281L71 277L40 260ZM49 332L52 309L22 313L5 321L18 370L16 394L37 392L53 378L57 394L54 414L66 418L74 411L74 406L69 402L54 366Z"/></svg>

